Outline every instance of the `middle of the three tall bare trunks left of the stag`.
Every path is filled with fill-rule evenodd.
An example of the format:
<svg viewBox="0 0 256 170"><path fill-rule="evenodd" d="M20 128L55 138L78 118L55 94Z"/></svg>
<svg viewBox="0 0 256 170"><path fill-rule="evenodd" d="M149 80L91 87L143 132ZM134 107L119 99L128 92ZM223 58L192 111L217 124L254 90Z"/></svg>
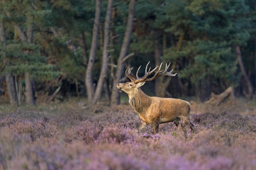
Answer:
<svg viewBox="0 0 256 170"><path fill-rule="evenodd" d="M109 37L109 28L111 22L111 13L112 13L112 1L108 0L108 9L106 13L105 23L104 23L104 43L103 43L103 51L102 51L102 68L100 72L100 77L97 83L97 87L93 96L93 104L97 104L101 98L102 88L104 85L104 81L106 78L106 73L108 72L108 45L110 42Z"/></svg>

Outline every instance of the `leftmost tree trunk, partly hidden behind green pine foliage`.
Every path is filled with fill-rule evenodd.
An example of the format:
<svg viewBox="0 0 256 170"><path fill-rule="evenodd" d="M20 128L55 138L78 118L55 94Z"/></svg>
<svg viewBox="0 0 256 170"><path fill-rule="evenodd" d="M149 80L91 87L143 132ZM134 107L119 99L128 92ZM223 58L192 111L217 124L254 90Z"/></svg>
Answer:
<svg viewBox="0 0 256 170"><path fill-rule="evenodd" d="M3 22L0 23L0 42L1 44L5 42L6 36L5 36L5 30L3 27ZM4 45L4 43L2 44ZM4 58L5 56L3 56ZM8 65L10 65L10 62L8 62ZM8 95L10 99L11 105L15 105L18 103L18 98L17 98L17 91L15 88L15 79L14 76L11 73L7 73L5 76L6 79L6 85L7 85L7 90L8 90Z"/></svg>

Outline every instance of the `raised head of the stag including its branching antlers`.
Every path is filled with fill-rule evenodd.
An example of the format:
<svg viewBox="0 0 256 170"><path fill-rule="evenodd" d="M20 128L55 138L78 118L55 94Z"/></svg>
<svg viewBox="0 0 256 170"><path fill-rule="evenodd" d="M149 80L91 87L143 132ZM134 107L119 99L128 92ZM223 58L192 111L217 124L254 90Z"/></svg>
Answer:
<svg viewBox="0 0 256 170"><path fill-rule="evenodd" d="M116 87L119 88L120 90L124 91L126 94L131 95L131 94L136 93L138 91L138 89L145 84L145 82L152 81L152 80L157 79L162 76L176 76L177 73L172 74L173 70L169 71L169 72L167 71L170 66L170 63L169 63L169 65L166 64L165 69L160 71L162 64L163 64L163 62L161 63L160 66L157 65L152 71L150 71L151 67L148 70L148 65L149 65L149 62L148 62L148 64L146 65L145 74L143 77L138 76L138 73L139 73L139 70L141 67L140 66L136 73L137 79L135 79L134 77L131 76L131 69L126 70L125 75L126 75L126 77L128 77L131 80L131 82L117 83ZM151 78L148 78L148 76L150 76L151 74L154 74L154 76Z"/></svg>

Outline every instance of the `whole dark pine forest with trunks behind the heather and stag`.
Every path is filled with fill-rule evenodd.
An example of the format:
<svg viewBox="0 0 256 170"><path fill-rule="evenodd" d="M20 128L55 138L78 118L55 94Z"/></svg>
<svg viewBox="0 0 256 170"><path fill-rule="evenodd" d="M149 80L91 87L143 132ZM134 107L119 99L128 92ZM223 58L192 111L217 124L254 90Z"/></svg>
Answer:
<svg viewBox="0 0 256 170"><path fill-rule="evenodd" d="M177 72L146 83L149 95L205 100L233 86L251 99L255 11L254 0L1 1L1 100L118 103L125 69L148 61Z"/></svg>

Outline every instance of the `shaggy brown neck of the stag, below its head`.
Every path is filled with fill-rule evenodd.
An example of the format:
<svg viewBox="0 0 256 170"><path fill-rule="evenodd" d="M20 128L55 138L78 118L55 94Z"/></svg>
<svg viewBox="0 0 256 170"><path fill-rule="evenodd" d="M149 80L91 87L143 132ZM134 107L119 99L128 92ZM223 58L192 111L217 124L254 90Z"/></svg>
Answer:
<svg viewBox="0 0 256 170"><path fill-rule="evenodd" d="M136 93L129 95L129 103L135 111L143 114L151 105L151 98L139 88Z"/></svg>

